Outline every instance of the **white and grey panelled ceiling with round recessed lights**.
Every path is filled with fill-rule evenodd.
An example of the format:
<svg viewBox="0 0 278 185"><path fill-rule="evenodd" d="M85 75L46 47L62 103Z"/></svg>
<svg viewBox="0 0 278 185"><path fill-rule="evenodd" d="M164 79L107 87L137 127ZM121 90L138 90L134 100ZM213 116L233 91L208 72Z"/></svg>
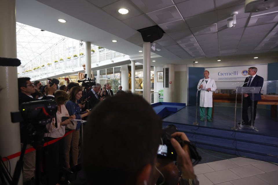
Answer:
<svg viewBox="0 0 278 185"><path fill-rule="evenodd" d="M119 14L121 7L129 14ZM166 33L155 41L161 49L152 53L156 66L192 58L278 56L278 7L244 13L244 0L17 0L16 10L17 22L90 41L134 60L142 58L137 29L159 25ZM235 11L237 24L227 28Z"/></svg>

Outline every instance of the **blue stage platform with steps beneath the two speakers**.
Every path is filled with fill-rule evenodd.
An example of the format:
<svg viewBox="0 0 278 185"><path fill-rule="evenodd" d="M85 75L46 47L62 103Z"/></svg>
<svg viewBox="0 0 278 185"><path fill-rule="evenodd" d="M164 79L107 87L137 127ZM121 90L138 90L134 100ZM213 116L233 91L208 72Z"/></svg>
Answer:
<svg viewBox="0 0 278 185"><path fill-rule="evenodd" d="M160 106L154 106L154 110L160 116L163 116L164 113L169 115L163 119L163 127L174 124L197 147L258 160L278 162L278 119L270 117L270 110L257 109L255 127L259 131L256 132L247 128L237 131L230 129L234 126L235 113L232 107L215 107L212 122L207 122L206 119L200 121L198 108L197 122L200 125L193 125L196 107L186 106L181 108L180 106L182 105L162 103ZM177 111L167 111L169 108L176 108ZM237 117L240 119L239 113L237 113ZM239 119L237 119L237 122L240 121Z"/></svg>

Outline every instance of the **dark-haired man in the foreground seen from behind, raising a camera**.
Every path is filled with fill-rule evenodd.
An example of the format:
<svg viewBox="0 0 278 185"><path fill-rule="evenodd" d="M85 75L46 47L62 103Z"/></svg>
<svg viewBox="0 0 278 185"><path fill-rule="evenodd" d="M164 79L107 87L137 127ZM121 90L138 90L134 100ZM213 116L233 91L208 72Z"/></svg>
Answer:
<svg viewBox="0 0 278 185"><path fill-rule="evenodd" d="M82 163L87 184L152 184L161 132L160 117L142 97L123 92L99 103L84 133ZM188 141L181 132L172 136ZM182 148L174 138L171 144L182 178L195 179L187 146Z"/></svg>

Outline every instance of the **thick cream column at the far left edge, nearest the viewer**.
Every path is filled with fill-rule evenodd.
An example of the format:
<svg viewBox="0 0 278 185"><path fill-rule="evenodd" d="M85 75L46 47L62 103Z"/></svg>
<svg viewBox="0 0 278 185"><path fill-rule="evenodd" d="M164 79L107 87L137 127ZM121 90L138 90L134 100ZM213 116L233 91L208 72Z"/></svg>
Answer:
<svg viewBox="0 0 278 185"><path fill-rule="evenodd" d="M0 27L0 57L17 58L15 0L1 2ZM0 79L0 153L6 157L21 149L19 123L12 123L10 116L10 112L18 111L17 67L0 66ZM10 160L11 175L17 160L19 157Z"/></svg>

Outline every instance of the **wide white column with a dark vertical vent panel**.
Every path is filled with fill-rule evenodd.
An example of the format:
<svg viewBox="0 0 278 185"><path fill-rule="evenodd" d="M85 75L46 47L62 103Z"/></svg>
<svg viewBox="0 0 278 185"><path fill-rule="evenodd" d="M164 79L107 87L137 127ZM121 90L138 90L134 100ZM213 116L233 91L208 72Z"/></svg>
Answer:
<svg viewBox="0 0 278 185"><path fill-rule="evenodd" d="M169 68L169 88L166 88L166 84L163 88L163 101L164 102L174 102L174 92L175 92L175 64L166 64L163 68ZM165 81L165 73L164 73ZM170 84L171 82L171 84Z"/></svg>

